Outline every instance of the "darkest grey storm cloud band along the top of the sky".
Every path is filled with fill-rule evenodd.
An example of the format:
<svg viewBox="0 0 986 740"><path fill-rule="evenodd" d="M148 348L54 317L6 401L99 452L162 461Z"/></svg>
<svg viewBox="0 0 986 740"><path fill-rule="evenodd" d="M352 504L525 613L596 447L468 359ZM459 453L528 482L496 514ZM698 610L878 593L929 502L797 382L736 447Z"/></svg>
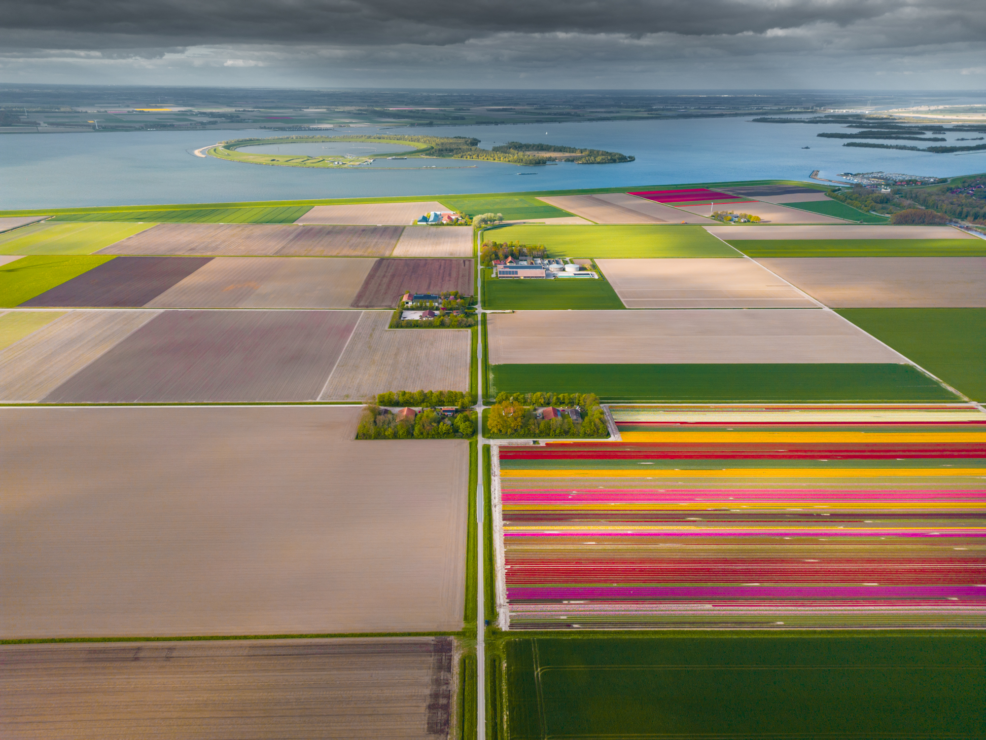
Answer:
<svg viewBox="0 0 986 740"><path fill-rule="evenodd" d="M913 36L908 43L939 29L952 40L982 38L983 8L983 0L3 0L0 26L6 45L22 48L442 45L544 32L735 37L819 24L873 24L878 36ZM904 28L884 29L891 19Z"/></svg>

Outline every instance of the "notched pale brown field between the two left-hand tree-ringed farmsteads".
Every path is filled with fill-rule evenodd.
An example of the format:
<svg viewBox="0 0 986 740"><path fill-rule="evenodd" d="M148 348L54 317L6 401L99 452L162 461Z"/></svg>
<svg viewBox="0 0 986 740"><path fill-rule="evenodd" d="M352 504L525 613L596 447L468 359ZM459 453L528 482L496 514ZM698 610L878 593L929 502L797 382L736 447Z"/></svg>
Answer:
<svg viewBox="0 0 986 740"><path fill-rule="evenodd" d="M364 311L319 401L363 401L385 391L468 391L469 331L387 329L388 311Z"/></svg>

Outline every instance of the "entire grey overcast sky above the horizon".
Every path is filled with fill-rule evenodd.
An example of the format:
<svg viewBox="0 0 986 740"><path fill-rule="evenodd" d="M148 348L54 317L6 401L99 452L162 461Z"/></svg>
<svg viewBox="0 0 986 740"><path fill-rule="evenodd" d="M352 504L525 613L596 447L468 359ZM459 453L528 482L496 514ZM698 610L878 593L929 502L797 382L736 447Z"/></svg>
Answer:
<svg viewBox="0 0 986 740"><path fill-rule="evenodd" d="M0 0L4 82L986 88L986 0Z"/></svg>

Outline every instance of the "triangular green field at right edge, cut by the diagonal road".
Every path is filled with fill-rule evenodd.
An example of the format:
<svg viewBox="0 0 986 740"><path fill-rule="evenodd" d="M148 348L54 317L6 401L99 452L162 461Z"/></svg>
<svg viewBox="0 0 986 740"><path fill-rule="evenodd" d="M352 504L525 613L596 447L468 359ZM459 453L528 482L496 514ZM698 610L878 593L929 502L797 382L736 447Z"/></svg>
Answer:
<svg viewBox="0 0 986 740"><path fill-rule="evenodd" d="M986 401L986 309L839 309L973 401Z"/></svg>

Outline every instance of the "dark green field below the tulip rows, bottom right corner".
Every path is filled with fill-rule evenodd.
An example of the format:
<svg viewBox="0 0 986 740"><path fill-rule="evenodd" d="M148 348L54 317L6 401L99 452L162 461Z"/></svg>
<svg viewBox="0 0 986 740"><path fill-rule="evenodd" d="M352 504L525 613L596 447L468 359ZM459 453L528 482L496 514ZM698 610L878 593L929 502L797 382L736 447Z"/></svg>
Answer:
<svg viewBox="0 0 986 740"><path fill-rule="evenodd" d="M977 632L529 636L503 648L515 740L986 736Z"/></svg>

